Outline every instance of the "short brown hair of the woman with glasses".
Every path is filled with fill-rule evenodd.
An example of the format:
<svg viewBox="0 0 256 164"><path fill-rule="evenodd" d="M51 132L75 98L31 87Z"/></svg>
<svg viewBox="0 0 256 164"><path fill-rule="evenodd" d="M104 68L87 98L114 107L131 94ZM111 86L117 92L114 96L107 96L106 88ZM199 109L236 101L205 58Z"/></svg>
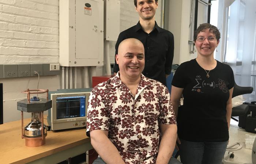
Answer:
<svg viewBox="0 0 256 164"><path fill-rule="evenodd" d="M209 29L209 31L212 32L216 36L217 41L219 41L219 39L221 39L221 33L219 32L217 27L211 25L210 23L203 23L203 24L200 24L200 26L196 29L195 34L194 34L194 41L196 41L197 35L200 32L204 32L207 29Z"/></svg>

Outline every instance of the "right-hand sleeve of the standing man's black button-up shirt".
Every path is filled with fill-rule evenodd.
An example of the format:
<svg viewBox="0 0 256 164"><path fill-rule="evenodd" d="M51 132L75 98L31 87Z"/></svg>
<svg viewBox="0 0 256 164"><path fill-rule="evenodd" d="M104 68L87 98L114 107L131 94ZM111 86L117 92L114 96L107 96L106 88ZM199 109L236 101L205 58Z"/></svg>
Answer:
<svg viewBox="0 0 256 164"><path fill-rule="evenodd" d="M174 54L174 37L170 32L169 36L169 46L168 51L166 53L166 62L165 62L165 74L171 74L172 71L172 63L173 63L173 54Z"/></svg>

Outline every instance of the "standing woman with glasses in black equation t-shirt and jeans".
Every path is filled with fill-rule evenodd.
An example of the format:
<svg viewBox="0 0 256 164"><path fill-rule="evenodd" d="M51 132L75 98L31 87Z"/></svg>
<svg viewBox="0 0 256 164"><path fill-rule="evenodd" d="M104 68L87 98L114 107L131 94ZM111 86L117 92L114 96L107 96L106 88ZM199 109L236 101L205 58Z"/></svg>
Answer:
<svg viewBox="0 0 256 164"><path fill-rule="evenodd" d="M171 100L183 164L221 164L225 154L234 74L229 65L214 59L219 39L217 27L201 24L194 35L196 59L182 63L172 80ZM181 95L183 105L178 108Z"/></svg>

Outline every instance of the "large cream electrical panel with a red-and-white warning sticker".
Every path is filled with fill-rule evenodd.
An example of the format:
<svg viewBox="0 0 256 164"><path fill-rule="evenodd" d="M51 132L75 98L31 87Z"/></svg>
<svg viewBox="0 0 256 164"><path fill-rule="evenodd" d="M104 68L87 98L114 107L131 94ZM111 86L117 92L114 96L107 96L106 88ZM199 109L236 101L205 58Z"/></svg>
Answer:
<svg viewBox="0 0 256 164"><path fill-rule="evenodd" d="M60 65L103 65L103 0L60 0Z"/></svg>

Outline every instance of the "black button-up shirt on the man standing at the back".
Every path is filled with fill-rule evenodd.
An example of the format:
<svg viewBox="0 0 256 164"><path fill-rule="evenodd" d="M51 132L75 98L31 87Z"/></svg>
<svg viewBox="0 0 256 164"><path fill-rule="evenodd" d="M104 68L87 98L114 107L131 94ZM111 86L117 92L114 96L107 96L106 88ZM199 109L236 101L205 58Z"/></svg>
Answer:
<svg viewBox="0 0 256 164"><path fill-rule="evenodd" d="M119 44L127 38L136 38L144 45L145 50L145 67L142 72L148 78L160 81L165 86L166 76L172 70L174 38L170 31L157 26L155 22L154 29L147 34L143 31L140 22L135 26L121 32L116 42L116 54ZM119 67L114 65L114 72L117 73Z"/></svg>

